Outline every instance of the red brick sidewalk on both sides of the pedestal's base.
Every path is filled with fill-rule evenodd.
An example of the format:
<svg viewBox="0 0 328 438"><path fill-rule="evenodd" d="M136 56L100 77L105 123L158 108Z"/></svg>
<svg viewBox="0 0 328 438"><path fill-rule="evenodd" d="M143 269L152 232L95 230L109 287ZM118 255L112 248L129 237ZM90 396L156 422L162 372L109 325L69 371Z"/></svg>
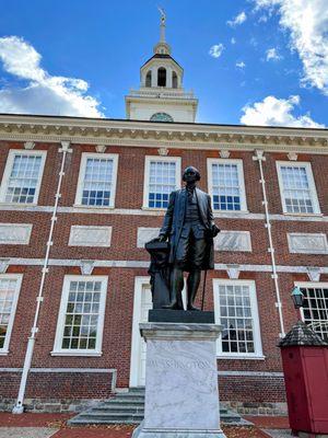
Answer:
<svg viewBox="0 0 328 438"><path fill-rule="evenodd" d="M68 427L68 414L0 413L0 438L130 438L136 426ZM247 417L254 427L224 426L227 438L285 438L286 417ZM267 431L268 430L268 431Z"/></svg>

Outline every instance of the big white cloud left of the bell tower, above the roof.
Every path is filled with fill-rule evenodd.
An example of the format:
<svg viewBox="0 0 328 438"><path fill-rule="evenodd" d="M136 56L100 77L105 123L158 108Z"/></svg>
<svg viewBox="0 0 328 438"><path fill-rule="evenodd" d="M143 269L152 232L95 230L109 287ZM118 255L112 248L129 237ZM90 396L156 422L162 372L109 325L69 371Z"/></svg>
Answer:
<svg viewBox="0 0 328 438"><path fill-rule="evenodd" d="M0 38L0 60L7 73L24 80L0 89L0 112L103 117L99 102L87 95L83 79L51 76L40 67L42 56L17 36ZM27 84L26 84L27 81Z"/></svg>

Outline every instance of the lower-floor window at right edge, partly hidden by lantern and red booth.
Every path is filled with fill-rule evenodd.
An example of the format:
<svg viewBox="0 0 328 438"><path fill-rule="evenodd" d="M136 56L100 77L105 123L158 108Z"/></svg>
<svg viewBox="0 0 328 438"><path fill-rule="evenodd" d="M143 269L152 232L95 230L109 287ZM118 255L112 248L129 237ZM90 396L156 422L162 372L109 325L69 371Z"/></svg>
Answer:
<svg viewBox="0 0 328 438"><path fill-rule="evenodd" d="M296 284L304 295L302 320L328 341L328 283Z"/></svg>

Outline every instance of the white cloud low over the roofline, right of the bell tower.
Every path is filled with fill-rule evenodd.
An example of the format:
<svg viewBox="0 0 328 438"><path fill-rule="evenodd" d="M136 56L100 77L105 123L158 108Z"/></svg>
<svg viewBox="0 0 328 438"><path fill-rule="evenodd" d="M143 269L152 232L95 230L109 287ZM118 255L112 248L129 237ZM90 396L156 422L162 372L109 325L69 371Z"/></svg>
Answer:
<svg viewBox="0 0 328 438"><path fill-rule="evenodd" d="M309 114L301 116L292 114L300 101L298 95L289 99L267 96L261 102L244 106L241 122L244 125L325 128L324 125L314 122Z"/></svg>

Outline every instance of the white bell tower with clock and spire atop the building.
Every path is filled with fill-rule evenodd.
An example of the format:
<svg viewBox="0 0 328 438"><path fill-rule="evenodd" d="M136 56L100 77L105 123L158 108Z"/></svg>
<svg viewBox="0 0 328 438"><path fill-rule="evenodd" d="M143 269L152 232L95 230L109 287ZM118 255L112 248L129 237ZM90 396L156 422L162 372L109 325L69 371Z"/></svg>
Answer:
<svg viewBox="0 0 328 438"><path fill-rule="evenodd" d="M198 100L183 88L184 69L171 56L165 39L166 15L161 11L160 42L140 69L140 88L126 96L128 119L195 122Z"/></svg>

